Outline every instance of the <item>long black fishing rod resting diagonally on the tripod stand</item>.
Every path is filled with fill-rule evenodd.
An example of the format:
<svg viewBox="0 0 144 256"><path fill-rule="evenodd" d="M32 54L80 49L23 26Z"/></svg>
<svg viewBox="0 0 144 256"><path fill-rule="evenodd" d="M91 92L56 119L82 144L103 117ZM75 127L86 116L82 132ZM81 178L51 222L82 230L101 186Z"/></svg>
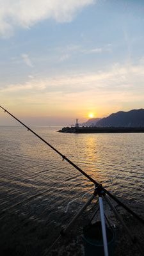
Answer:
<svg viewBox="0 0 144 256"><path fill-rule="evenodd" d="M12 115L9 111L7 111L6 109L4 109L2 106L0 106L1 109L4 110L4 112L8 113L10 116L12 116L15 120L17 120L17 122L19 122L20 124L22 124L24 127L26 127L28 129L28 131L31 131L33 134L35 134L36 137L38 137L40 140L42 140L47 146L51 147L52 150L54 150L57 154L59 154L63 160L67 161L69 164L71 164L72 166L74 166L74 168L76 168L79 172L81 172L88 180L90 180L91 182L93 182L93 184L95 184L96 188L99 188L99 191L102 192L104 191L104 193L106 193L107 195L109 195L113 200L115 200L115 202L117 202L119 205L121 205L126 211L128 211L129 213L131 213L137 220L139 220L141 223L143 223L144 225L144 220L138 216L138 214L136 214L134 211L132 211L131 209L129 209L129 207L127 207L127 205L123 204L122 202L120 202L120 200L118 198L116 198L116 196L114 196L113 194L111 194L106 188L104 188L101 184L99 184L99 182L97 182L96 180L94 180L92 177L90 177L90 175L88 175L86 172L84 172L81 168L79 168L79 166L77 166L76 164L74 164L72 161L70 161L70 159L68 159L68 157L66 157L65 155L61 154L60 151L58 151L56 148L54 148L50 143L48 143L46 140L44 140L40 135L38 135L35 131L33 131L31 128L29 128L26 124L24 124L23 122L21 122L17 117L15 117L14 115Z"/></svg>

